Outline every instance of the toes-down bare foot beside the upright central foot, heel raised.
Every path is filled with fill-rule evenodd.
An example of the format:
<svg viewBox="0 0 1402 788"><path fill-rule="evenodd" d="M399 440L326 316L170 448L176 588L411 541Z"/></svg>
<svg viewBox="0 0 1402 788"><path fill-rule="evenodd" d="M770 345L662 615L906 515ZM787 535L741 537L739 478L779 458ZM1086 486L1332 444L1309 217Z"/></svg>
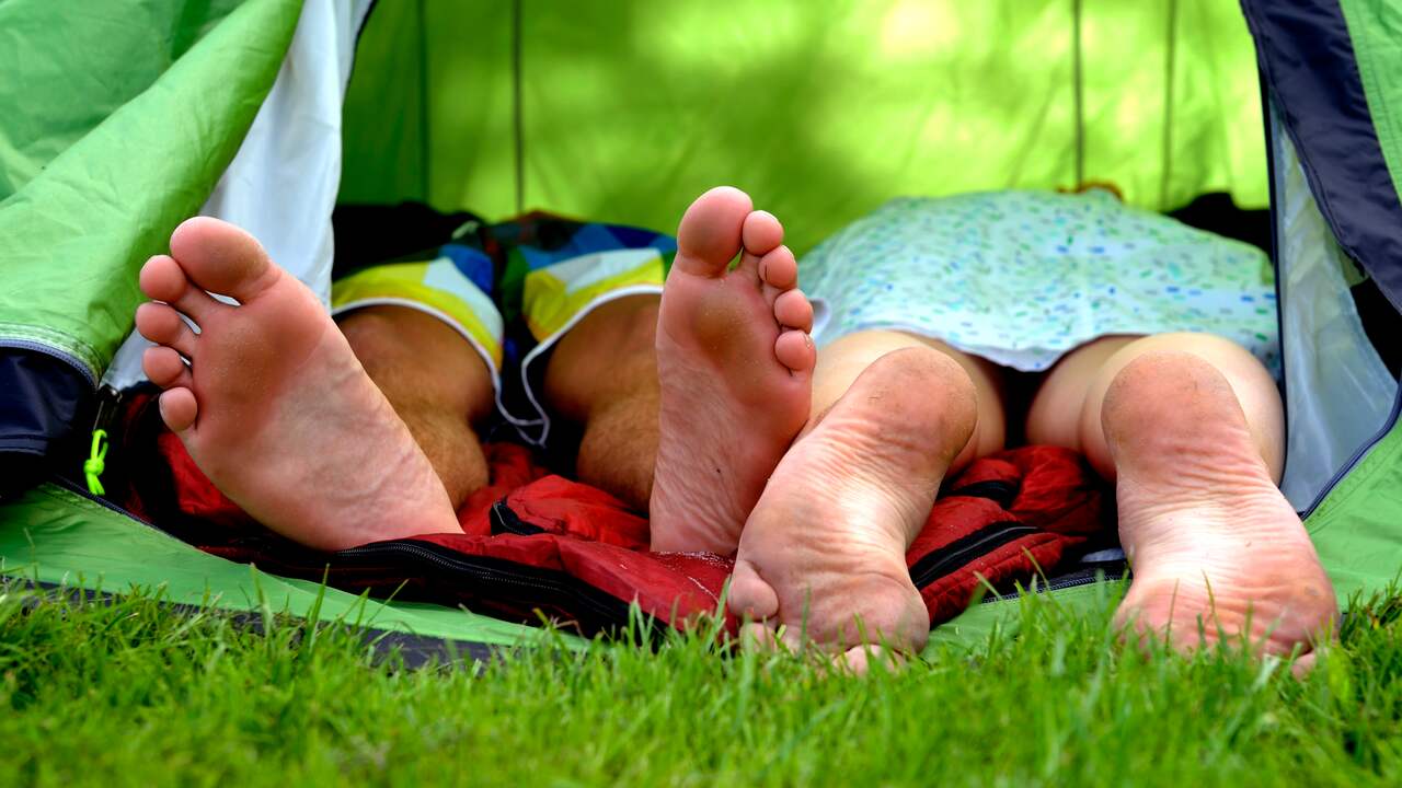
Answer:
<svg viewBox="0 0 1402 788"><path fill-rule="evenodd" d="M774 471L740 536L729 609L744 639L777 627L791 645L864 644L914 652L930 613L910 582L906 550L924 527L949 463L973 435L973 383L931 348L878 359L801 437Z"/></svg>

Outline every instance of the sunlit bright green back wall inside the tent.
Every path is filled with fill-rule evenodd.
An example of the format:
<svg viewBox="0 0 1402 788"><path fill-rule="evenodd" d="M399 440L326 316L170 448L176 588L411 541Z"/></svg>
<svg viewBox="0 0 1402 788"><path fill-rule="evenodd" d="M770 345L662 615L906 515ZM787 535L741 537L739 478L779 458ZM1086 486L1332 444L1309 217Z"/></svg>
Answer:
<svg viewBox="0 0 1402 788"><path fill-rule="evenodd" d="M359 57L348 203L670 231L733 184L802 254L896 195L1266 202L1231 0L381 3Z"/></svg>

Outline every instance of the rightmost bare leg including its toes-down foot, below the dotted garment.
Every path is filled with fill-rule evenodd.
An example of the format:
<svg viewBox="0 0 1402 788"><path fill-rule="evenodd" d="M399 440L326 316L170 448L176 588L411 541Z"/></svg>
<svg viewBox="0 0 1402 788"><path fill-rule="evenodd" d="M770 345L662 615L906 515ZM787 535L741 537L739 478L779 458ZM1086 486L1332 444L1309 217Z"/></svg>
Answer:
<svg viewBox="0 0 1402 788"><path fill-rule="evenodd" d="M1029 439L1080 449L1116 480L1134 568L1122 621L1180 648L1242 637L1266 653L1309 651L1338 613L1276 488L1283 433L1265 367L1206 334L1088 345L1047 377L1028 422Z"/></svg>

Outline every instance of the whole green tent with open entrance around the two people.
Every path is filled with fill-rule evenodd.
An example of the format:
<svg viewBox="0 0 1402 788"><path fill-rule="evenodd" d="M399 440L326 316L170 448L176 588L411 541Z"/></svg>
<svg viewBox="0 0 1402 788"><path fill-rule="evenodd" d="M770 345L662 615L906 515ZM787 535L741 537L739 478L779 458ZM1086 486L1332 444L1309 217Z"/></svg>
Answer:
<svg viewBox="0 0 1402 788"><path fill-rule="evenodd" d="M901 193L1109 181L1158 210L1209 192L1270 206L1283 487L1340 596L1380 589L1402 568L1398 24L1380 0L6 0L0 572L317 604L315 583L195 551L70 481L107 393L139 377L135 272L193 213L248 227L325 293L338 202L670 230L729 182L802 254ZM425 638L530 631L321 604Z"/></svg>

